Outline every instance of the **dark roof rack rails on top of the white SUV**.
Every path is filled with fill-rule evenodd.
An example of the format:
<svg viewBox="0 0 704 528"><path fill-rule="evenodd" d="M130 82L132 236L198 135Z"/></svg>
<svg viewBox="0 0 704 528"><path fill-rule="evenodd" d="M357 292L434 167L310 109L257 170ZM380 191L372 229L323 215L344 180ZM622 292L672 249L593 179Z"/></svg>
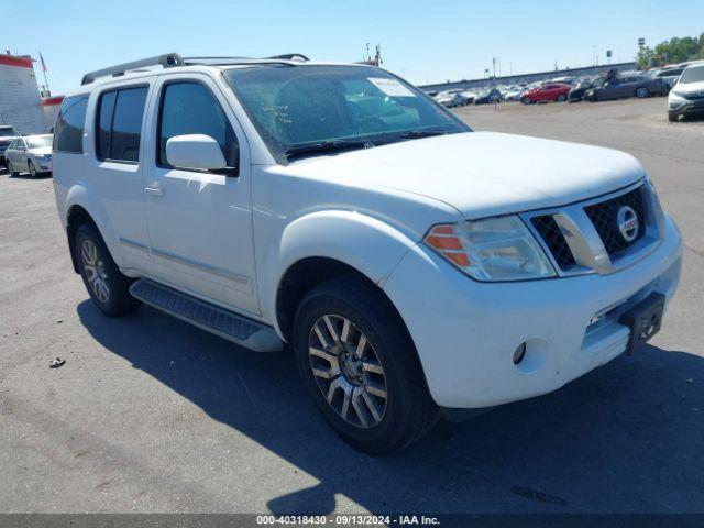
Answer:
<svg viewBox="0 0 704 528"><path fill-rule="evenodd" d="M178 53L166 53L164 55L156 55L154 57L143 58L141 61L133 61L131 63L118 64L117 66L110 66L109 68L97 69L84 75L81 85L87 85L95 81L98 77L119 77L128 72L133 72L140 68L148 66L162 66L164 68L173 68L176 66L187 66L196 64L212 64L212 65L226 65L226 64L263 64L263 63L276 63L290 64L290 62L307 62L310 61L302 53L287 53L285 55L275 55L273 57L264 58L251 58L251 57L182 57Z"/></svg>

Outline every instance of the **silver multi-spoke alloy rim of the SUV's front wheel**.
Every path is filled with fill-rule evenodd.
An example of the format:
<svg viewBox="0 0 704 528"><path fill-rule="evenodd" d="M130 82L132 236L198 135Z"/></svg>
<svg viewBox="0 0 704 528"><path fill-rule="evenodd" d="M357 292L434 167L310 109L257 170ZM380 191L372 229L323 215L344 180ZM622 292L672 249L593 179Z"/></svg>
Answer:
<svg viewBox="0 0 704 528"><path fill-rule="evenodd" d="M384 367L352 321L337 315L319 318L308 353L318 388L343 420L364 429L382 421L388 400Z"/></svg>

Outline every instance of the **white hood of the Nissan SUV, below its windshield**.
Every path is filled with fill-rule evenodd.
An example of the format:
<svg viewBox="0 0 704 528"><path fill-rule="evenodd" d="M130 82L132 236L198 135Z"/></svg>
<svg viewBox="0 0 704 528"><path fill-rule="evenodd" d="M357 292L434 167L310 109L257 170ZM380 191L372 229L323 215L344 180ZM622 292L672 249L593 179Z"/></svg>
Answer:
<svg viewBox="0 0 704 528"><path fill-rule="evenodd" d="M496 132L405 141L294 162L290 173L435 198L466 219L562 206L645 176L609 148Z"/></svg>

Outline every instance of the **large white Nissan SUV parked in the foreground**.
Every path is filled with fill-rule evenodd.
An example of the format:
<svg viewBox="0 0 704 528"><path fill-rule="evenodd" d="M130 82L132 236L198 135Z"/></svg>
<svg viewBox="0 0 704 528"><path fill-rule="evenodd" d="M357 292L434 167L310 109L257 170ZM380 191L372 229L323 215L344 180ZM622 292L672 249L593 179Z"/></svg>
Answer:
<svg viewBox="0 0 704 528"><path fill-rule="evenodd" d="M299 55L87 75L54 185L106 315L142 301L256 351L289 343L369 452L631 352L681 267L631 156L473 132L383 69Z"/></svg>

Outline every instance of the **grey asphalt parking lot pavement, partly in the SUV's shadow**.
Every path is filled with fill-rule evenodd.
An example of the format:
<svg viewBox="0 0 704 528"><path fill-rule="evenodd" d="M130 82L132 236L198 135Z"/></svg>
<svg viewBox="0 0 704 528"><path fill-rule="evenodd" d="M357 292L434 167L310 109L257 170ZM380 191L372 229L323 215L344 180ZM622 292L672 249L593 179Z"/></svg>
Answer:
<svg viewBox="0 0 704 528"><path fill-rule="evenodd" d="M664 105L458 111L640 158L684 233L683 280L652 345L385 458L337 439L289 354L146 307L101 316L52 180L0 174L0 510L704 512L704 128L667 123Z"/></svg>

